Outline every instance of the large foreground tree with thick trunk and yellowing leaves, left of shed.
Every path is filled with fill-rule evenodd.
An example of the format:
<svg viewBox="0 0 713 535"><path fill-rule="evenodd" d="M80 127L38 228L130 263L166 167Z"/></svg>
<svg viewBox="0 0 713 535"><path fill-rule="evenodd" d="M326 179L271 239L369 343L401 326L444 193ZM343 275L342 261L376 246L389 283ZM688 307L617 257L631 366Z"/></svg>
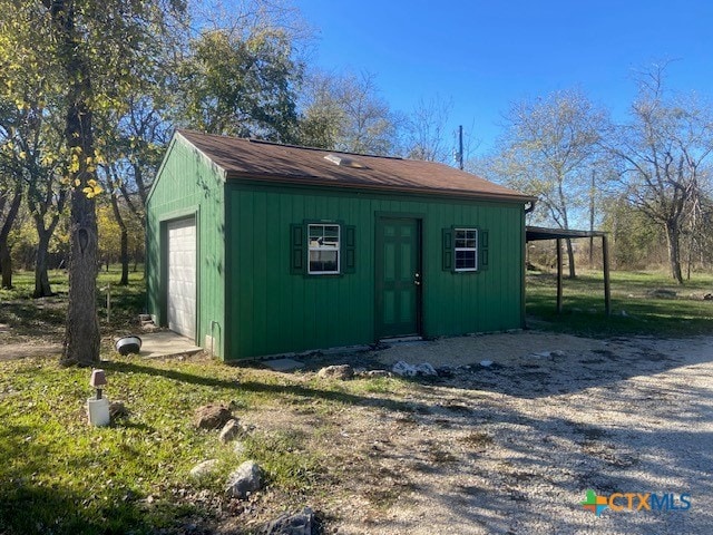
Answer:
<svg viewBox="0 0 713 535"><path fill-rule="evenodd" d="M71 207L69 307L62 361L91 364L99 358L96 313L97 222L94 115L123 106L123 95L144 75L154 36L185 6L177 0L0 0L0 89L16 100L14 76L47 79L64 117L65 179Z"/></svg>

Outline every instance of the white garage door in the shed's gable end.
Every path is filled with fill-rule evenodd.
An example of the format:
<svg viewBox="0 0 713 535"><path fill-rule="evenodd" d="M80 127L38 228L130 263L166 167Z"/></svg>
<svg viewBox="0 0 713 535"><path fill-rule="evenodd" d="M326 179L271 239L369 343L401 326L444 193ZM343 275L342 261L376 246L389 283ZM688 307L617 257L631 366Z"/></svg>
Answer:
<svg viewBox="0 0 713 535"><path fill-rule="evenodd" d="M168 329L196 338L196 220L168 223Z"/></svg>

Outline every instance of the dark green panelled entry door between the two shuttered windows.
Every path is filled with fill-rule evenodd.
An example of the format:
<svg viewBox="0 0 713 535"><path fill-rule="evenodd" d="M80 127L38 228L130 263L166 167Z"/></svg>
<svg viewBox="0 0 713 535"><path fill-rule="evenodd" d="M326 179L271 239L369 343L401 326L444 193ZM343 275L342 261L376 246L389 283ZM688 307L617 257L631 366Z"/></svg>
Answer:
<svg viewBox="0 0 713 535"><path fill-rule="evenodd" d="M377 220L377 337L420 334L420 220Z"/></svg>

